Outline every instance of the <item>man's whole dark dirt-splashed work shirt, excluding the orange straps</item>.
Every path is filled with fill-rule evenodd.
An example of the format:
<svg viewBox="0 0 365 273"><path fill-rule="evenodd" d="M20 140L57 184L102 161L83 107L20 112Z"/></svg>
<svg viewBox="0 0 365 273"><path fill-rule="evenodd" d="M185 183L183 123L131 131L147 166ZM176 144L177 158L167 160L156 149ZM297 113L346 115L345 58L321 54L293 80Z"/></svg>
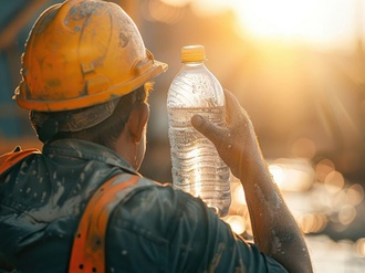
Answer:
<svg viewBox="0 0 365 273"><path fill-rule="evenodd" d="M113 150L63 139L0 174L0 272L67 272L93 192L138 175ZM105 272L286 272L236 235L205 203L147 178L109 214Z"/></svg>

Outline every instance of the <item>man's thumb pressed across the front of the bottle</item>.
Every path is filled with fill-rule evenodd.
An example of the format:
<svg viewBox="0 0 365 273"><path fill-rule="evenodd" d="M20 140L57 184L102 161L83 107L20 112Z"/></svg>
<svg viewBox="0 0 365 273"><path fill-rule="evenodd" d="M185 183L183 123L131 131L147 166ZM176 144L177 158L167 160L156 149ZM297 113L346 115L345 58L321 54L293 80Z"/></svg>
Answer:
<svg viewBox="0 0 365 273"><path fill-rule="evenodd" d="M216 147L221 144L222 136L226 134L226 128L221 128L210 120L204 118L200 115L191 117L191 125L202 135L205 135Z"/></svg>

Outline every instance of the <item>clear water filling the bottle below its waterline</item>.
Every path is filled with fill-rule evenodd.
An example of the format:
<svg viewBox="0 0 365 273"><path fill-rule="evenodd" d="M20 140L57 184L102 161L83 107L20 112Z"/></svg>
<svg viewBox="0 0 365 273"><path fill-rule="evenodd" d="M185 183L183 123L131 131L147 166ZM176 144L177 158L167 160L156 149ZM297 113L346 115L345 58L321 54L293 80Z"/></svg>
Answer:
<svg viewBox="0 0 365 273"><path fill-rule="evenodd" d="M173 181L181 189L201 198L217 214L228 212L230 171L213 144L191 127L196 114L225 126L225 107L169 108Z"/></svg>

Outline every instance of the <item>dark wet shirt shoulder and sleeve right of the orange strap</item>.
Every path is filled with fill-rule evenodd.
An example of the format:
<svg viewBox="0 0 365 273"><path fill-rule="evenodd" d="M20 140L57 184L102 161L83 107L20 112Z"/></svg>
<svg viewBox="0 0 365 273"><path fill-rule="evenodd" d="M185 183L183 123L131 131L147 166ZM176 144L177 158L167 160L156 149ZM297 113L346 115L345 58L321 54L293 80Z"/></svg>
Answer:
<svg viewBox="0 0 365 273"><path fill-rule="evenodd" d="M137 188L109 221L107 272L286 272L200 199L171 187Z"/></svg>

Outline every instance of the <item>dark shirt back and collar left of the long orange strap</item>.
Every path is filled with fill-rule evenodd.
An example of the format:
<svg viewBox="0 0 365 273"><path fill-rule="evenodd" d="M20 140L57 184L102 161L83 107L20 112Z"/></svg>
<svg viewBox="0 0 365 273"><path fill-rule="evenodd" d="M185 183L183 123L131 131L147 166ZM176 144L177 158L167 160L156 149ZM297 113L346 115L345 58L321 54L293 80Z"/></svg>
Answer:
<svg viewBox="0 0 365 273"><path fill-rule="evenodd" d="M135 172L114 151L65 139L1 174L0 269L66 272L73 234L90 197L124 171Z"/></svg>

